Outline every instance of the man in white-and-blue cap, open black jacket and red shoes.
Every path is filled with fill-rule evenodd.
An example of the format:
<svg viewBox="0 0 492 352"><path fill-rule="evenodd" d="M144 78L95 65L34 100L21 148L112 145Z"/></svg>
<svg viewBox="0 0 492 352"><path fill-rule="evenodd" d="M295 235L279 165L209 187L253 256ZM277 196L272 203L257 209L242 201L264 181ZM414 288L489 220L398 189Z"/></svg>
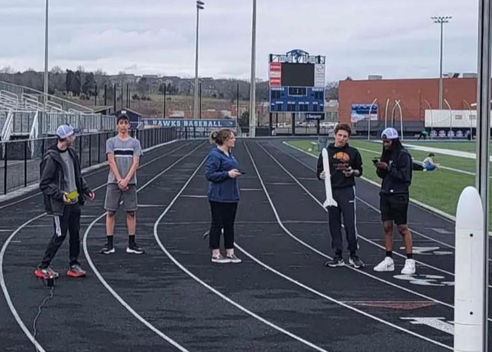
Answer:
<svg viewBox="0 0 492 352"><path fill-rule="evenodd" d="M57 278L59 274L51 267L58 248L70 233L69 270L67 275L78 278L86 276L80 268L80 206L86 196L94 200L94 192L89 188L80 171L80 162L72 149L75 133L72 126L61 125L56 130L57 143L50 146L40 164L39 188L44 193L45 208L53 216L54 233L45 255L34 271L38 278Z"/></svg>

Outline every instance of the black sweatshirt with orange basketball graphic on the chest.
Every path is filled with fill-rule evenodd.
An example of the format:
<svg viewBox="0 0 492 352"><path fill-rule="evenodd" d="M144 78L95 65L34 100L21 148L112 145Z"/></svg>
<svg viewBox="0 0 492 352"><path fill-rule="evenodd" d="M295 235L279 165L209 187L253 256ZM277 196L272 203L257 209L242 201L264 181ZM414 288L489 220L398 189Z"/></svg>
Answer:
<svg viewBox="0 0 492 352"><path fill-rule="evenodd" d="M350 166L354 170L359 170L359 176L362 175L362 158L360 157L359 151L348 144L341 148L335 147L334 143L331 143L326 148L326 151L328 152L328 161L330 163L332 189L355 186L354 176L345 177L343 170ZM318 168L316 171L318 179L320 179L319 175L321 171L323 171L322 153L319 154L318 158Z"/></svg>

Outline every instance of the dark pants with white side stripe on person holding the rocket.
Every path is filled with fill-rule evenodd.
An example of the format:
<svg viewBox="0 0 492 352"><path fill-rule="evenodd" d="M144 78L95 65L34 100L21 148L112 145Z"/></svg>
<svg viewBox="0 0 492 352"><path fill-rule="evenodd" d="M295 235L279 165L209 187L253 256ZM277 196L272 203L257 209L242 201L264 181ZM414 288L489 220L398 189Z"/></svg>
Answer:
<svg viewBox="0 0 492 352"><path fill-rule="evenodd" d="M338 188L333 190L333 199L338 203L337 207L328 207L328 219L330 233L332 235L332 248L335 253L342 253L342 216L345 226L345 235L348 242L348 250L353 253L357 250L357 228L355 219L355 190L354 187Z"/></svg>

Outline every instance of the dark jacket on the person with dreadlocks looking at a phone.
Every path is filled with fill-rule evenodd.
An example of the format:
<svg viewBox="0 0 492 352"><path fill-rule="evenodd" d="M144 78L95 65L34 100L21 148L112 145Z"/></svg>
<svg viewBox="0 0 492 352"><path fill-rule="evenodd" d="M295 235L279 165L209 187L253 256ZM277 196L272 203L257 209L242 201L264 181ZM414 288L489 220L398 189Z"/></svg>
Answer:
<svg viewBox="0 0 492 352"><path fill-rule="evenodd" d="M380 194L408 193L408 187L412 183L410 153L405 148L394 149L386 156L383 154L381 161L388 164L388 169L376 169L378 176L383 179Z"/></svg>

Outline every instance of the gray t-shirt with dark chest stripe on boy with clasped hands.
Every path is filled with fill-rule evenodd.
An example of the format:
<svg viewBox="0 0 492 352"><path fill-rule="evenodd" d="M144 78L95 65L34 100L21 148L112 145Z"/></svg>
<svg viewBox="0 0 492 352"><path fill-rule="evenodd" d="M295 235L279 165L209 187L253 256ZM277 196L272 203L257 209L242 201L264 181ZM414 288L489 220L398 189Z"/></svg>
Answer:
<svg viewBox="0 0 492 352"><path fill-rule="evenodd" d="M118 136L115 136L106 141L106 154L109 153L114 154L114 161L118 167L119 174L122 178L125 178L132 167L133 157L140 157L142 155L142 147L140 146L140 142L134 138L130 137L124 141ZM108 174L108 183L118 183L111 169ZM129 184L137 184L136 172L133 174Z"/></svg>

